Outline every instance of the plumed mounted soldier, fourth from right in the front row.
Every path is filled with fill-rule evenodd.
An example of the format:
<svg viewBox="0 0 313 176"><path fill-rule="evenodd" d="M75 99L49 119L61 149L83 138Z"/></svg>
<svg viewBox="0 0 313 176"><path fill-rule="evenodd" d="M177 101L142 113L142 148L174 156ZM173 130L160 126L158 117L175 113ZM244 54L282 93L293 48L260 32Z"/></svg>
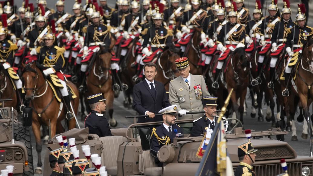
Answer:
<svg viewBox="0 0 313 176"><path fill-rule="evenodd" d="M254 51L254 48L257 47L261 36L264 37L264 18L262 18L262 7L261 1L256 0L255 9L253 10L253 20L250 20L246 26L246 38L245 42L247 44L246 52L250 56ZM258 68L262 69L261 67Z"/></svg>

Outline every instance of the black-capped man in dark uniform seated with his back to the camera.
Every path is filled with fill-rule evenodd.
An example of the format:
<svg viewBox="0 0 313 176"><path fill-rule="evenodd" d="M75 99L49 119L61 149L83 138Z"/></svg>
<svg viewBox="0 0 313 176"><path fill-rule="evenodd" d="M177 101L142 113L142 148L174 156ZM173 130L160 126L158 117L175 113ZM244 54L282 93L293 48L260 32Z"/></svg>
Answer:
<svg viewBox="0 0 313 176"><path fill-rule="evenodd" d="M91 108L91 112L85 119L85 127L89 128L89 133L97 134L99 137L112 136L108 120L106 120L104 114L106 99L103 99L102 93L98 93L92 96L88 96L88 103Z"/></svg>

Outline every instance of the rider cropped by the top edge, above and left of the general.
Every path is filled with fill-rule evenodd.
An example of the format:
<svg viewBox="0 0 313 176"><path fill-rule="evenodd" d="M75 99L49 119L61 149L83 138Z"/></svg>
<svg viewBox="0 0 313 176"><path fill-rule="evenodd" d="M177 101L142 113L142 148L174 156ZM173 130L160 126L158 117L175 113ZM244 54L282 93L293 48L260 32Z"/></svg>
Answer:
<svg viewBox="0 0 313 176"><path fill-rule="evenodd" d="M173 29L176 22L180 21L180 16L183 13L183 8L179 6L179 0L171 0L171 7L164 10L163 21L167 23L169 28Z"/></svg>

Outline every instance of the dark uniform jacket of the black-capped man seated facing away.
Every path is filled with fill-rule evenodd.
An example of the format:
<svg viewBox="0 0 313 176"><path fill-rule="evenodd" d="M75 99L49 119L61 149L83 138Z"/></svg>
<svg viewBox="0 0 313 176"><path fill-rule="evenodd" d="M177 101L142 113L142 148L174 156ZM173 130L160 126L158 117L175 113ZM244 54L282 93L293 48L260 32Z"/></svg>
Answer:
<svg viewBox="0 0 313 176"><path fill-rule="evenodd" d="M89 113L85 119L85 127L89 128L90 134L97 134L99 137L112 136L108 120L97 111Z"/></svg>

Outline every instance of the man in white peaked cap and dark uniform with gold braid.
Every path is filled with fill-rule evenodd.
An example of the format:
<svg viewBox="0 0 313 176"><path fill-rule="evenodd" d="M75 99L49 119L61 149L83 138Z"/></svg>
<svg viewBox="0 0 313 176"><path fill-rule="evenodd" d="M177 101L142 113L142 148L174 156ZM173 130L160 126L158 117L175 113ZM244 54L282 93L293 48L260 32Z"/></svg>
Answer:
<svg viewBox="0 0 313 176"><path fill-rule="evenodd" d="M159 111L159 113L162 114L163 124L159 127L153 128L151 133L151 149L156 152L156 154L163 145L173 143L174 137L180 137L182 135L181 128L178 125L175 125L177 116L176 109L177 106L172 105ZM158 159L156 159L156 163L159 167L162 165Z"/></svg>

